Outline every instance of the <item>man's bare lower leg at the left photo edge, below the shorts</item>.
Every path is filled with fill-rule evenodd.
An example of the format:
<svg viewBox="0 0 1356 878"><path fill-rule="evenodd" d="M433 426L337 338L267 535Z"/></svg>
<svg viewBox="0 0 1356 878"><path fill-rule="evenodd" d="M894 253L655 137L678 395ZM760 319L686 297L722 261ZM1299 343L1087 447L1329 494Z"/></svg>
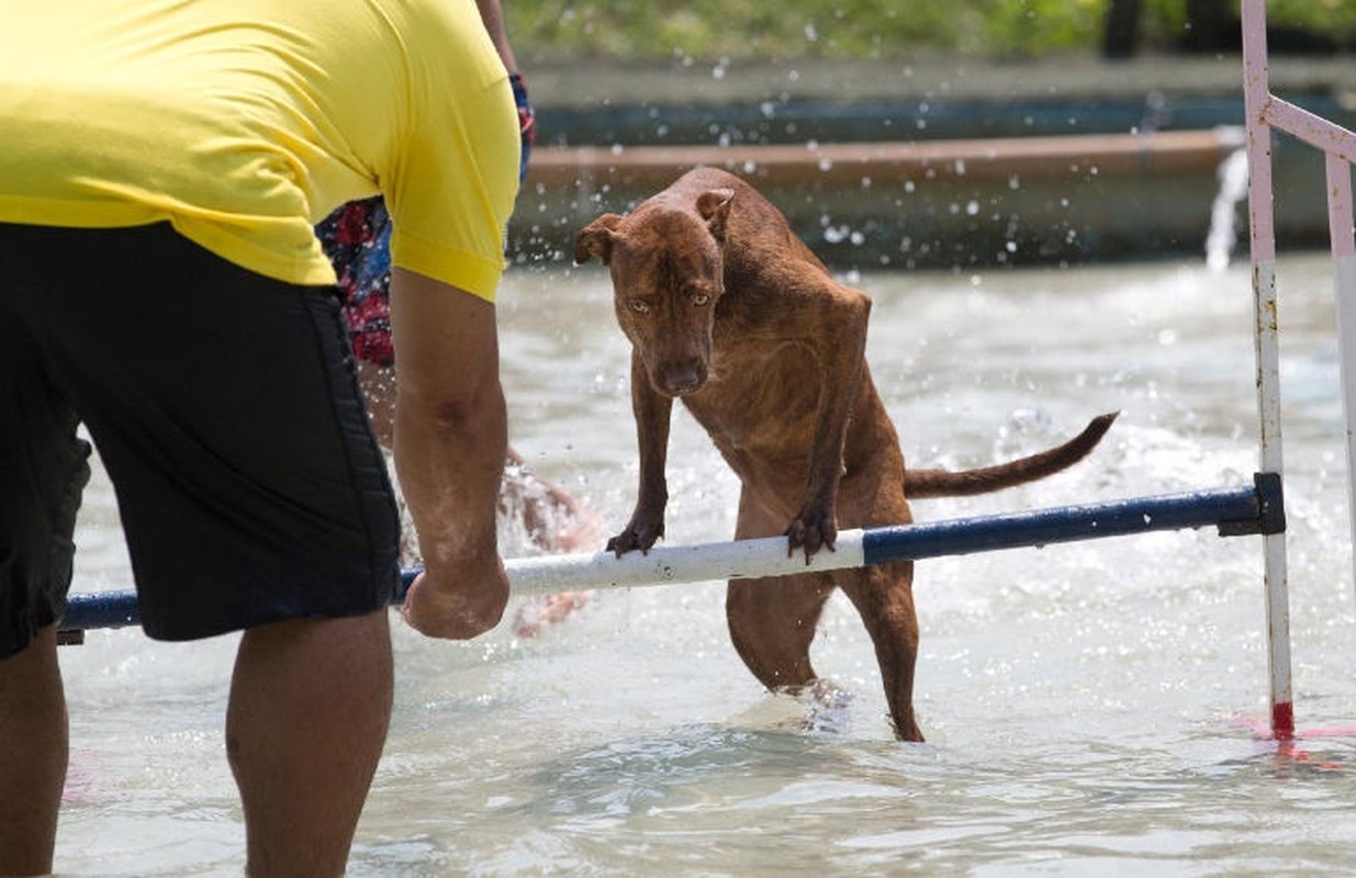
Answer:
<svg viewBox="0 0 1356 878"><path fill-rule="evenodd" d="M49 626L0 661L0 875L52 871L66 752L66 701Z"/></svg>

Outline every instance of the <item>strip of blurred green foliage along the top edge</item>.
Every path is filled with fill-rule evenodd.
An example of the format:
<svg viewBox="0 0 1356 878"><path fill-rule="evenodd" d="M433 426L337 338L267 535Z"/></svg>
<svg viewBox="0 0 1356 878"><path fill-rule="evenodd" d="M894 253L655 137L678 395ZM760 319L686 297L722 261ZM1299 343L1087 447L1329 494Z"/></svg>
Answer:
<svg viewBox="0 0 1356 878"><path fill-rule="evenodd" d="M1044 56L1096 50L1111 0L504 0L537 58L890 58L919 50ZM1140 38L1170 46L1185 0L1140 0ZM1237 14L1238 3L1233 8ZM1356 41L1352 0L1271 0L1273 24Z"/></svg>

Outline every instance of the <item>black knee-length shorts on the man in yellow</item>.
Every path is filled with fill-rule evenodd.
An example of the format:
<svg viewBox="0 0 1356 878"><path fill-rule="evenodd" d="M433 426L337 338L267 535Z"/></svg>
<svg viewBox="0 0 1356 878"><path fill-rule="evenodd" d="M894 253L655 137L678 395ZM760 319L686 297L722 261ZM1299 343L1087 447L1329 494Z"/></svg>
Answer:
<svg viewBox="0 0 1356 878"><path fill-rule="evenodd" d="M0 657L65 610L80 421L149 635L391 602L399 519L335 289L252 274L168 224L0 225Z"/></svg>

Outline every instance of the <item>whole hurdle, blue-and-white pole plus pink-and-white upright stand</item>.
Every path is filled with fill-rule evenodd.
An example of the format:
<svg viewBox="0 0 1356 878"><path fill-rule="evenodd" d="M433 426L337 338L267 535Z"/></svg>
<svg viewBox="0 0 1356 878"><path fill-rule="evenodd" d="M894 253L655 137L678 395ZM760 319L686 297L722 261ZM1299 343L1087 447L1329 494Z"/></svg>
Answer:
<svg viewBox="0 0 1356 878"><path fill-rule="evenodd" d="M1352 222L1351 163L1356 134L1271 95L1267 80L1265 0L1243 0L1243 98L1249 160L1254 348L1260 419L1260 472L1252 485L1135 497L933 523L852 530L835 551L791 557L785 538L660 546L622 558L610 553L518 558L506 562L515 595L582 588L674 585L743 577L784 576L857 568L887 561L968 554L997 549L1215 526L1222 537L1261 535L1268 629L1271 736L1295 737L1291 684L1290 598L1285 561L1280 370L1276 308L1276 245L1272 215L1271 131L1292 134L1328 156L1329 217L1336 260L1338 335L1356 332L1356 240ZM1341 346L1348 466L1356 473L1356 351ZM1356 545L1356 480L1352 481ZM1356 564L1356 561L1353 561ZM418 570L405 570L393 604ZM77 593L62 621L62 641L81 642L87 629L138 625L134 591Z"/></svg>

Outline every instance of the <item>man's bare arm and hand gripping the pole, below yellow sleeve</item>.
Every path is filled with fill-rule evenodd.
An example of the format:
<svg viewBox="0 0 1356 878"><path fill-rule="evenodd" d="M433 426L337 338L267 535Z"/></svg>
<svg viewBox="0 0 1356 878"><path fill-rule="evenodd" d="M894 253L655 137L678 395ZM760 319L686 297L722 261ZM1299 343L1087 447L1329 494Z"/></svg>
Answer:
<svg viewBox="0 0 1356 878"><path fill-rule="evenodd" d="M400 351L396 476L424 562L405 618L430 637L475 637L509 600L495 534L507 447L495 306L395 268L391 328Z"/></svg>

